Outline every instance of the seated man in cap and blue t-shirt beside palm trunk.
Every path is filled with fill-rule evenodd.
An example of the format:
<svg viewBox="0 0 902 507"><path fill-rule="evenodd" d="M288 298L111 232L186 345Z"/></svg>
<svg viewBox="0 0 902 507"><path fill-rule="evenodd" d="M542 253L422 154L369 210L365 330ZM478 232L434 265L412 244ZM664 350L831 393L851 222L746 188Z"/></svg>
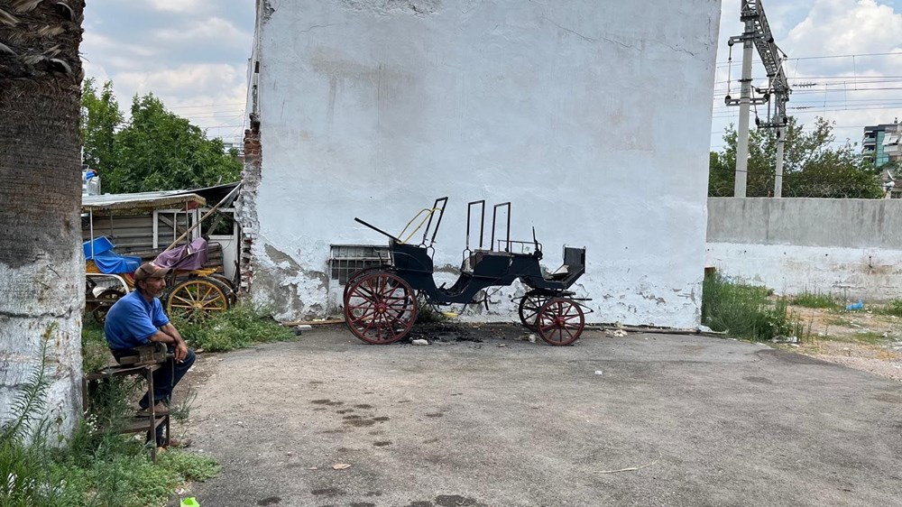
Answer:
<svg viewBox="0 0 902 507"><path fill-rule="evenodd" d="M179 331L172 326L163 312L160 296L166 288L165 276L169 268L154 263L144 263L134 272L134 290L117 300L106 314L104 335L116 362L129 355L138 355L136 346L154 343L165 344L172 355L153 373L153 398L150 392L138 403L139 415L150 415L148 408L153 403L157 415L167 413L172 389L194 364L194 351L185 345ZM157 446L163 444L162 425L157 428ZM170 438L171 446L187 445Z"/></svg>

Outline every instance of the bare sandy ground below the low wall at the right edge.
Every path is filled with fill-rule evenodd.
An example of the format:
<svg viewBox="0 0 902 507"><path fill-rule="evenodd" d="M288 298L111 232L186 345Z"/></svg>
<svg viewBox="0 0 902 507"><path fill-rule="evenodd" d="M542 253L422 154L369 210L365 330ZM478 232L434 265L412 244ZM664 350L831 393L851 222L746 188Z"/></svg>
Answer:
<svg viewBox="0 0 902 507"><path fill-rule="evenodd" d="M902 381L902 318L874 310L790 309L805 336L779 348Z"/></svg>

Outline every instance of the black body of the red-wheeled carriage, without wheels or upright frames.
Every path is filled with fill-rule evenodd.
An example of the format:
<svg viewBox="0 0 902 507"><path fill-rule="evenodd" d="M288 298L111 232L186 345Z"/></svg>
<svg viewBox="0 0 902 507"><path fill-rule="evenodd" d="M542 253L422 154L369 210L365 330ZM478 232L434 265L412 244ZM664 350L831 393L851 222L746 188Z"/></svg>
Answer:
<svg viewBox="0 0 902 507"><path fill-rule="evenodd" d="M421 290L435 304L474 303L476 295L489 287L506 287L520 279L536 293L548 295L566 291L585 272L585 249L565 247L564 266L548 277L542 274L541 251L510 253L477 250L461 265L461 273L451 287L437 287L435 266L425 246L405 244L391 239L392 270Z"/></svg>

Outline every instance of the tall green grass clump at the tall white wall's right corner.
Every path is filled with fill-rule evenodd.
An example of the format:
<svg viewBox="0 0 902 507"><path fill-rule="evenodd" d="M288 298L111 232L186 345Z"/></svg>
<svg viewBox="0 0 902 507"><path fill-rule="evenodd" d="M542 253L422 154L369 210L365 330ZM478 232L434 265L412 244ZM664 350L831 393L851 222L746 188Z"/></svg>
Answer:
<svg viewBox="0 0 902 507"><path fill-rule="evenodd" d="M714 331L750 340L805 335L805 326L788 309L785 298L771 300L766 287L735 283L718 274L706 276L702 288L702 323Z"/></svg>

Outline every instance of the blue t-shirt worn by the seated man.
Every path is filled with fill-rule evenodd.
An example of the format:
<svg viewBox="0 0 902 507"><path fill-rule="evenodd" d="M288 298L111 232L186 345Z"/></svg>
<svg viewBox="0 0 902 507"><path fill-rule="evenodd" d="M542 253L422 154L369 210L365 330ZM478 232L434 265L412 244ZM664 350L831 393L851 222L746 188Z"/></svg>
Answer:
<svg viewBox="0 0 902 507"><path fill-rule="evenodd" d="M158 298L144 300L137 290L115 302L106 313L104 335L112 349L148 345L157 328L169 324Z"/></svg>

